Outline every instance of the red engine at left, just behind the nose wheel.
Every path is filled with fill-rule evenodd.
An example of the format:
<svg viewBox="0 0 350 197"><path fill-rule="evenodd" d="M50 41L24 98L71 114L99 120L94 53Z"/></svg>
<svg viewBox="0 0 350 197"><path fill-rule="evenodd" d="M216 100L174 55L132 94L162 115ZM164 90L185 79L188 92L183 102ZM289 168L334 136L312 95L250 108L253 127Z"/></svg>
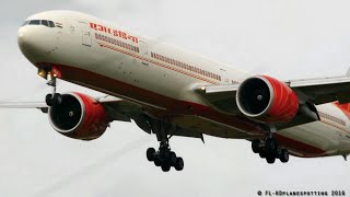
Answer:
<svg viewBox="0 0 350 197"><path fill-rule="evenodd" d="M105 132L108 118L100 103L81 93L61 96L62 103L48 111L49 121L55 130L80 140L93 140Z"/></svg>

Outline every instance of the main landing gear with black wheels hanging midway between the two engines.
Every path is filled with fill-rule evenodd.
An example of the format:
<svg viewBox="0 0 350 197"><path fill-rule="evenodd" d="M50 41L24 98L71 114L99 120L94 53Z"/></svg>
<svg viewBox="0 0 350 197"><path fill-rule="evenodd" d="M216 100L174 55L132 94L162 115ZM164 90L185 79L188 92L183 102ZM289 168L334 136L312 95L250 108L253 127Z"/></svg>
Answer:
<svg viewBox="0 0 350 197"><path fill-rule="evenodd" d="M168 144L170 125L155 120L152 124L152 131L156 134L156 138L161 141L161 146L158 151L154 148L149 148L147 150L147 159L150 162L154 162L155 166L161 166L163 172L168 172L171 167L175 167L176 171L182 171L184 169L184 160L180 157L176 157L176 153L171 150Z"/></svg>

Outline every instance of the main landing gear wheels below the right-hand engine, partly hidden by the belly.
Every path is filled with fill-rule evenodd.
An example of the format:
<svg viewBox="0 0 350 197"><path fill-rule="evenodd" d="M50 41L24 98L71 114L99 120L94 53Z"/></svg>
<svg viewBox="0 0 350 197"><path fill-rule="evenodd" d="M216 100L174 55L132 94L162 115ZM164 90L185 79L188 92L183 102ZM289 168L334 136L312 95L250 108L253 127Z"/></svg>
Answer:
<svg viewBox="0 0 350 197"><path fill-rule="evenodd" d="M289 161L289 152L287 149L282 149L275 138L267 137L261 142L260 140L252 141L252 150L254 153L258 153L260 158L265 158L267 163L275 163L276 159L279 159L282 163Z"/></svg>

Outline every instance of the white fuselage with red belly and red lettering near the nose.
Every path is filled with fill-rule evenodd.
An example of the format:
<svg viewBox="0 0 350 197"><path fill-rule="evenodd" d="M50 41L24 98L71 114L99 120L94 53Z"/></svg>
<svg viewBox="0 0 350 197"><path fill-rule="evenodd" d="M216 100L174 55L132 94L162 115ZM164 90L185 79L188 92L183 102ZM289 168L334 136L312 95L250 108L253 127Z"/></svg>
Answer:
<svg viewBox="0 0 350 197"><path fill-rule="evenodd" d="M244 72L79 12L43 12L27 20L56 23L21 27L19 44L33 65L55 67L62 80L141 104L154 116L207 135L264 135L254 121L217 112L194 92L198 85L238 83L247 78ZM317 109L320 121L280 130L279 142L299 157L350 153L348 116L334 103Z"/></svg>

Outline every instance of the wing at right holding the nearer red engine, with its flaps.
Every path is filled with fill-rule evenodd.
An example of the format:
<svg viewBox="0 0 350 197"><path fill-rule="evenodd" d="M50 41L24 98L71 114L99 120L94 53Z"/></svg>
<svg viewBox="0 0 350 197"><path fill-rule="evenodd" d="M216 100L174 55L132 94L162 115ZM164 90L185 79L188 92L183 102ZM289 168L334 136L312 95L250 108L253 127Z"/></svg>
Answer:
<svg viewBox="0 0 350 197"><path fill-rule="evenodd" d="M302 79L284 81L299 99L299 113L288 124L279 125L279 129L293 127L318 119L317 112L310 113L306 107L339 101L350 103L350 72L343 77ZM202 85L197 86L197 92L211 107L226 114L241 114L236 104L238 84ZM306 104L308 106L306 106Z"/></svg>

